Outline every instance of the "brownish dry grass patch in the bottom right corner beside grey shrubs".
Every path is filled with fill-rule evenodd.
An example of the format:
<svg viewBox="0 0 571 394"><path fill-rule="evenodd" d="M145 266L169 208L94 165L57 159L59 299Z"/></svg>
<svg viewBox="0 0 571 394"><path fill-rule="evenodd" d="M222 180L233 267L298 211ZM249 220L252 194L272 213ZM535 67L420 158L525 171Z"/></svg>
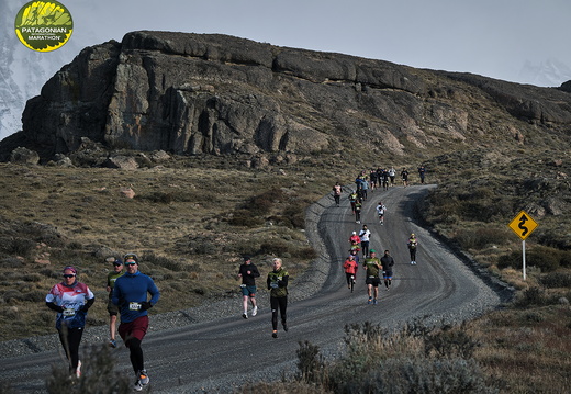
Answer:
<svg viewBox="0 0 571 394"><path fill-rule="evenodd" d="M469 325L482 344L474 358L504 393L567 393L570 322L569 306L490 313Z"/></svg>

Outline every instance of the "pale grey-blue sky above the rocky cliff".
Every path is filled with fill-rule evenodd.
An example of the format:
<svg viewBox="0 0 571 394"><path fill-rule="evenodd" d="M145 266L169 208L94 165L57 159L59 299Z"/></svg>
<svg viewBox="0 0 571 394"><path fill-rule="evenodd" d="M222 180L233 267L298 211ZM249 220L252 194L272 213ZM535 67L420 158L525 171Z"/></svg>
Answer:
<svg viewBox="0 0 571 394"><path fill-rule="evenodd" d="M418 68L518 80L526 61L571 68L570 0L74 0L71 40L134 30L231 34ZM561 81L562 82L562 81Z"/></svg>

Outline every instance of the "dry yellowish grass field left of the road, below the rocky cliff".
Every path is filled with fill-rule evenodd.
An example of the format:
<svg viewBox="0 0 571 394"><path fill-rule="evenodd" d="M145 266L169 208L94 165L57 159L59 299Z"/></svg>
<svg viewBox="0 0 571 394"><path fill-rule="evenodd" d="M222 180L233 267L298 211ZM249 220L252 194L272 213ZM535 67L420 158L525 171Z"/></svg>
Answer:
<svg viewBox="0 0 571 394"><path fill-rule="evenodd" d="M303 217L331 188L320 180L327 178L201 164L136 171L0 165L0 340L53 331L43 300L66 264L107 300L104 258L139 254L141 270L163 291L157 313L237 293L243 254L262 271L279 254L293 278L302 272L314 252L303 221L283 217ZM258 226L229 223L244 209ZM105 302L91 311L89 324L105 324Z"/></svg>

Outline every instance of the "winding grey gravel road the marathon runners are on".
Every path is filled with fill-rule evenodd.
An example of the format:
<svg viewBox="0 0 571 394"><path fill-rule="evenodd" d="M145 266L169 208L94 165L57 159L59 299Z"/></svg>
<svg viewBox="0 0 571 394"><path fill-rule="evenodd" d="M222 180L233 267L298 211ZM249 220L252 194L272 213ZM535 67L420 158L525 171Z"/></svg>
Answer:
<svg viewBox="0 0 571 394"><path fill-rule="evenodd" d="M324 196L306 212L306 235L320 257L290 285L290 330L271 338L269 296L261 289L260 312L247 320L240 317L238 299L152 315L150 330L143 342L152 391L227 393L247 382L279 380L282 374L295 373L300 341L317 345L325 357L339 354L347 324L370 322L398 327L415 318L430 325L454 323L479 316L508 300L510 288L488 277L467 256L452 252L415 222L417 202L433 187L369 192L369 201L363 204L362 223L372 232L371 248L380 254L391 250L396 262L393 289L384 292L380 288L379 305L367 305L362 268L352 294L342 269L349 235L362 224L355 223L346 194L338 207L329 195ZM383 226L374 213L380 200L388 207ZM411 233L419 241L416 266L408 263L406 240ZM107 327L88 327L83 338L83 348L103 342ZM127 350L121 347L115 354L119 370L132 373ZM0 382L10 381L18 392L43 393L49 365L60 358L55 335L0 342Z"/></svg>

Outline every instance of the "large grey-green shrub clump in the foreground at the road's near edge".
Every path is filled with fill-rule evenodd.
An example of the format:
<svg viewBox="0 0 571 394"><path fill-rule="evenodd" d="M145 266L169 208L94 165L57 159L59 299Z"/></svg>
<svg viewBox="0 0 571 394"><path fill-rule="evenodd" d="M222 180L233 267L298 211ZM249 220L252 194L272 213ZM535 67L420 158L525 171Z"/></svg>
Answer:
<svg viewBox="0 0 571 394"><path fill-rule="evenodd" d="M471 359L477 344L463 327L434 330L415 322L389 331L365 323L347 326L345 342L346 356L323 374L335 393L496 392Z"/></svg>

